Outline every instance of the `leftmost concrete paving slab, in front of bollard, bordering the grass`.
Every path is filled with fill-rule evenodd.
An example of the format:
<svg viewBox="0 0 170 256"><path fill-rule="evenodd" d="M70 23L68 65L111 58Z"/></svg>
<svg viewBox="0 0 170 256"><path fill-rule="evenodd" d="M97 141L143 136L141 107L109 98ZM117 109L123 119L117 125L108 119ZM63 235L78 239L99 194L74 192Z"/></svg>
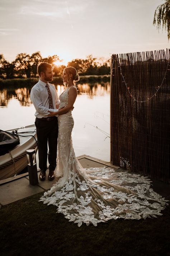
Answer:
<svg viewBox="0 0 170 256"><path fill-rule="evenodd" d="M7 205L42 191L42 188L30 185L28 179L18 179L0 186L0 203Z"/></svg>

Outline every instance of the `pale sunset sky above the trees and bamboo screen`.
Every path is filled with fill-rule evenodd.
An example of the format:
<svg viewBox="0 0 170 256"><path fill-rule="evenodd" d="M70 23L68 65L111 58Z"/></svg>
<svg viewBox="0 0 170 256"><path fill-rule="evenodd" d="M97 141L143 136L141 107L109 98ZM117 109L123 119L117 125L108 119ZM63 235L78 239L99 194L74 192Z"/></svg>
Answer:
<svg viewBox="0 0 170 256"><path fill-rule="evenodd" d="M112 53L169 48L153 26L162 0L0 0L0 53L110 58Z"/></svg>

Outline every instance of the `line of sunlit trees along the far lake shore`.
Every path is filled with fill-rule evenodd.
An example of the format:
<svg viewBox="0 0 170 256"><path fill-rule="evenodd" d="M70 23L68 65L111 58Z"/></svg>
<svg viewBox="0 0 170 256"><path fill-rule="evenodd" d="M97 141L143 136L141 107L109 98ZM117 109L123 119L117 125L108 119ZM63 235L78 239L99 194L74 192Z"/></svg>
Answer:
<svg viewBox="0 0 170 256"><path fill-rule="evenodd" d="M60 66L56 66L55 62L61 62ZM58 55L42 58L41 53L37 51L32 55L20 53L16 56L13 62L8 62L3 54L0 54L0 78L30 78L37 77L37 66L40 62L52 64L54 76L61 76L63 69L62 60ZM94 58L88 55L86 59L73 59L68 62L67 66L72 66L77 69L79 75L109 75L110 63L109 60L103 58Z"/></svg>

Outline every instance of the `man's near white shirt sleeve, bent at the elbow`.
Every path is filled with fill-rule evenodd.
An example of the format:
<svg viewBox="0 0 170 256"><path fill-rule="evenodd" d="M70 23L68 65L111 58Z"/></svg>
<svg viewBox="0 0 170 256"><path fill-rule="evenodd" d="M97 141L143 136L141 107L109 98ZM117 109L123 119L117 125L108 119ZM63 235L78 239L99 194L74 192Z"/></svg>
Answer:
<svg viewBox="0 0 170 256"><path fill-rule="evenodd" d="M57 96L58 98L58 96ZM52 112L58 112L58 109L51 109L51 108L46 108L43 106L41 97L39 95L39 91L34 89L31 90L30 93L30 99L34 105L34 108L36 109L36 111L38 113L44 114L45 116L48 116L49 112L48 111L52 111Z"/></svg>

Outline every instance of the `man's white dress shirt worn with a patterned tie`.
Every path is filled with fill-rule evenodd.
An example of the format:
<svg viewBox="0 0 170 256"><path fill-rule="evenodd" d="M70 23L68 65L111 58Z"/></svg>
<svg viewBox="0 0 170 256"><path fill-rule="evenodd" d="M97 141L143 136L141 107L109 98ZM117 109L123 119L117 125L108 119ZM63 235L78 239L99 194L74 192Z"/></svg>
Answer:
<svg viewBox="0 0 170 256"><path fill-rule="evenodd" d="M60 104L60 100L58 99L56 88L52 84L48 83L48 85L49 90L51 91L54 109L49 109L48 91L46 83L39 79L38 83L34 85L31 89L30 100L32 101L36 109L35 116L37 118L47 117L49 114L48 110L52 112L58 111L58 109L56 109L56 104Z"/></svg>

